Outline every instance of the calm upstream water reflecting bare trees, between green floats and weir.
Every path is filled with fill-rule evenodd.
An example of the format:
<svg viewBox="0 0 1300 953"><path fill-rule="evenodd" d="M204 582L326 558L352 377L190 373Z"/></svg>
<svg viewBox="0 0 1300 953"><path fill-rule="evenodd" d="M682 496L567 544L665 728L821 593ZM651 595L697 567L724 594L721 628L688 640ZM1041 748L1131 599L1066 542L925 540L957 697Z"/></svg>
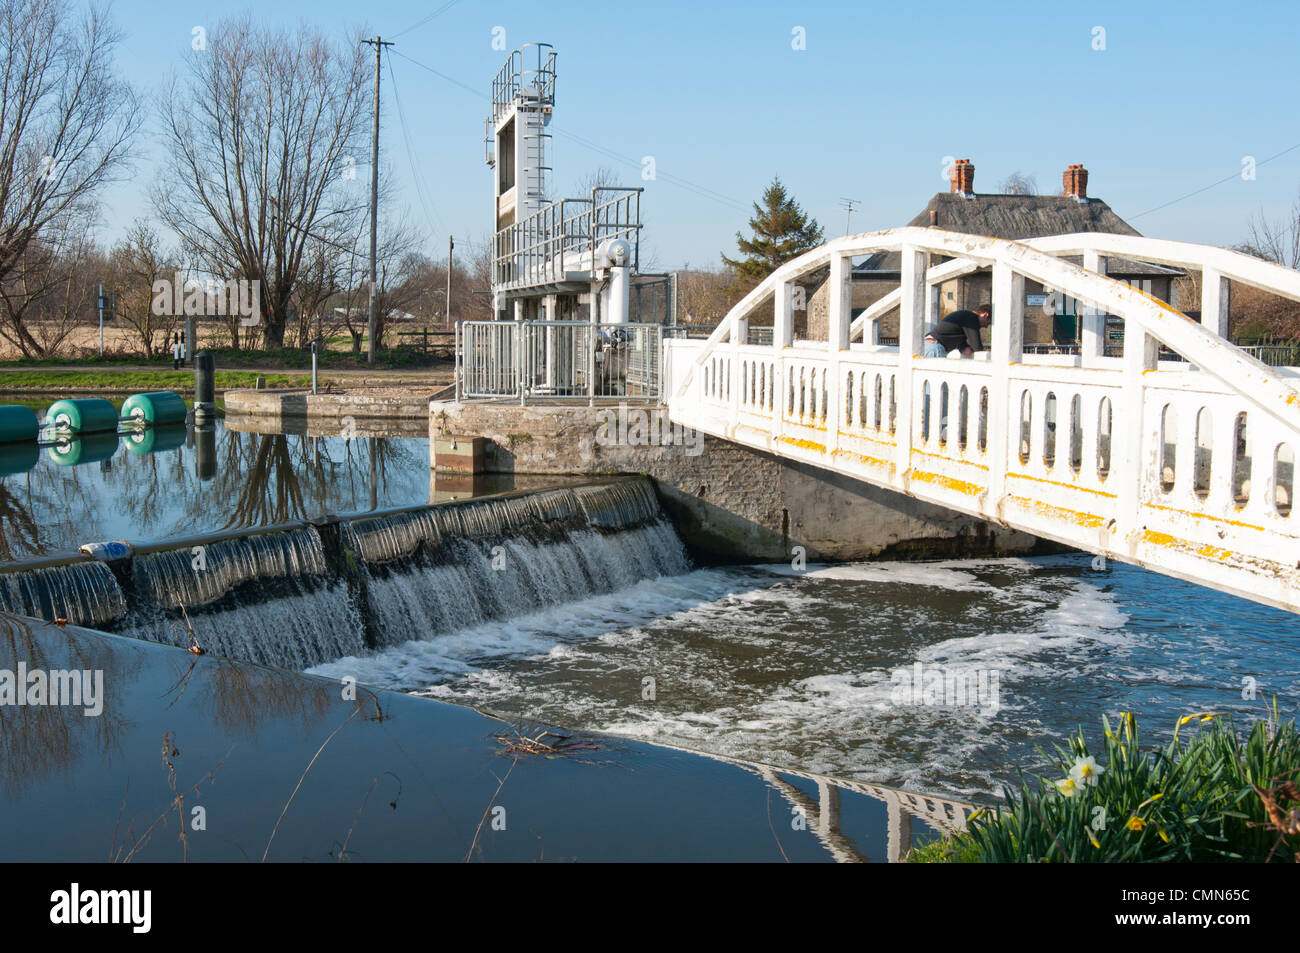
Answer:
<svg viewBox="0 0 1300 953"><path fill-rule="evenodd" d="M235 433L217 426L216 473L195 473L190 446L107 468L58 467L42 452L26 475L0 478L0 560L124 536L164 540L224 527L363 512L426 499L419 439ZM22 481L22 482L20 482Z"/></svg>

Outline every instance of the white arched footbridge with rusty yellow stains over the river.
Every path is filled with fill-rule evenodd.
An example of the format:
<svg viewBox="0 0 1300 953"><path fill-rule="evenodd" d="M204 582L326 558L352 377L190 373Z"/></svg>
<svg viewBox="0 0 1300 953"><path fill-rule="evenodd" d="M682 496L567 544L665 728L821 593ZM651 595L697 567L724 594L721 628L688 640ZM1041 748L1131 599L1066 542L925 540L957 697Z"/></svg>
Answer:
<svg viewBox="0 0 1300 953"><path fill-rule="evenodd" d="M901 254L901 285L853 320L853 259L876 252ZM1108 256L1201 273L1201 321L1108 278ZM828 341L796 341L796 285L827 267ZM940 283L980 269L991 351L919 356ZM1089 306L1080 354L1024 354L1026 280ZM666 341L664 397L673 423L715 437L1300 611L1300 371L1228 343L1230 281L1300 300L1300 272L1209 246L848 235L783 265L707 341ZM770 345L749 343L759 309ZM898 346L866 343L893 309ZM1124 321L1123 356L1105 356L1106 315ZM1184 360L1160 360L1161 345Z"/></svg>

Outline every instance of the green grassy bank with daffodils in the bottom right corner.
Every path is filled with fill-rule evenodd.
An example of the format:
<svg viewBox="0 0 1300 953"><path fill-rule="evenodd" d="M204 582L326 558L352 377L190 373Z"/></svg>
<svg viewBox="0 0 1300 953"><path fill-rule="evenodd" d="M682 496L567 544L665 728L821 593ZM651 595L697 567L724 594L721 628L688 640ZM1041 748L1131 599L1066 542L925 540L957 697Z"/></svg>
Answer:
<svg viewBox="0 0 1300 953"><path fill-rule="evenodd" d="M907 854L911 863L1300 861L1300 733L1277 710L1239 736L1230 716L1186 715L1144 751L1132 715L1057 748L1053 777L1006 789L996 811Z"/></svg>

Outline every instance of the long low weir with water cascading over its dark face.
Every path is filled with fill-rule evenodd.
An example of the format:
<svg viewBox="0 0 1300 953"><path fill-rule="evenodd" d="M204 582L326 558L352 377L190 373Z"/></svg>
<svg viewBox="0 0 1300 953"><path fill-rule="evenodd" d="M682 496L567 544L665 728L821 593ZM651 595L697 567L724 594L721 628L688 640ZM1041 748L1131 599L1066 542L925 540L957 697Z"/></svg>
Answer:
<svg viewBox="0 0 1300 953"><path fill-rule="evenodd" d="M690 568L644 477L87 549L0 608L294 670Z"/></svg>

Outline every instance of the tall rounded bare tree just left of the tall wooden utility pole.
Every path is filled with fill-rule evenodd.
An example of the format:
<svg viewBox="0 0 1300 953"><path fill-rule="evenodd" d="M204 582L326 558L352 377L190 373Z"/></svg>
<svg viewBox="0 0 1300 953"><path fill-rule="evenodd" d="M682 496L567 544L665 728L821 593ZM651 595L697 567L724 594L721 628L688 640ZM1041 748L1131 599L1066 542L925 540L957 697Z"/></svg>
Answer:
<svg viewBox="0 0 1300 953"><path fill-rule="evenodd" d="M220 23L165 94L155 207L211 273L261 282L268 347L283 345L311 235L364 208L367 79L359 43L244 17Z"/></svg>

